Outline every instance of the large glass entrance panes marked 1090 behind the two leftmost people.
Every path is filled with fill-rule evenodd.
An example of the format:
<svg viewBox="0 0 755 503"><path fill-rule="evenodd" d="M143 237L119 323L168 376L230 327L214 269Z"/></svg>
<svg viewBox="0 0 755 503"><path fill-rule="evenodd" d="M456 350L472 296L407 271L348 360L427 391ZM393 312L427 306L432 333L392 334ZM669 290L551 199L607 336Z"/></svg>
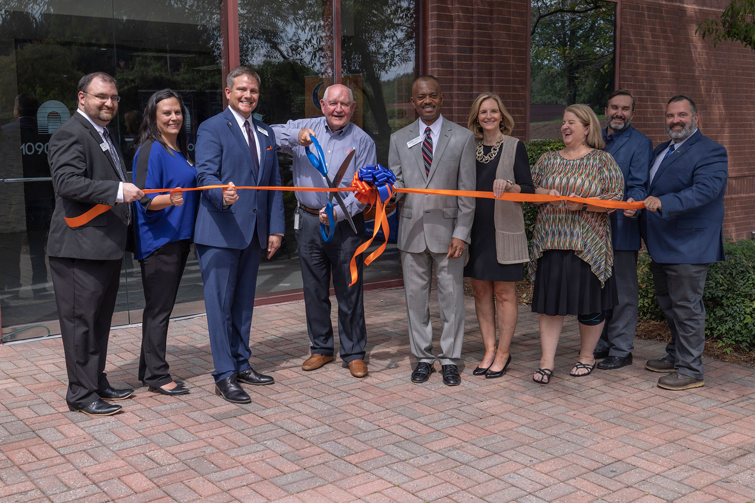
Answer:
<svg viewBox="0 0 755 503"><path fill-rule="evenodd" d="M140 112L154 90L173 87L183 94L192 133L199 122L222 109L219 9L217 0L4 3L0 11L0 155L7 160L0 163L0 179L5 180L0 183L0 198L7 201L0 213L3 327L43 324L57 332L57 308L45 259L54 207L47 149L51 134L75 113L79 78L103 71L118 79L122 100L109 130L119 140L130 169ZM131 254L124 270L113 324L140 321L143 307L140 271ZM178 302L202 299L198 278L196 258L190 256ZM190 311L202 312L204 307ZM174 314L182 314L181 308ZM4 336L10 332L3 329ZM32 328L5 340L45 333L44 328Z"/></svg>

